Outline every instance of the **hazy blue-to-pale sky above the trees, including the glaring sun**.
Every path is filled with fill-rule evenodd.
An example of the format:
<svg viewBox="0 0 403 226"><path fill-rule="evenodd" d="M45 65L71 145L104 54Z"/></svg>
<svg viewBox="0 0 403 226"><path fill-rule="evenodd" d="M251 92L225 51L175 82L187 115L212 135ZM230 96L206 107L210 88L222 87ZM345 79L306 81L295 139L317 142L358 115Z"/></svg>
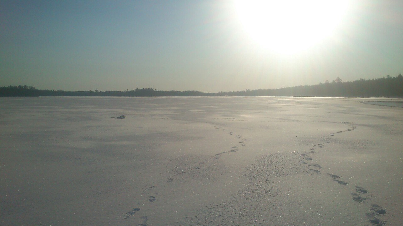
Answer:
<svg viewBox="0 0 403 226"><path fill-rule="evenodd" d="M218 92L403 73L403 1L265 2L2 0L0 86Z"/></svg>

